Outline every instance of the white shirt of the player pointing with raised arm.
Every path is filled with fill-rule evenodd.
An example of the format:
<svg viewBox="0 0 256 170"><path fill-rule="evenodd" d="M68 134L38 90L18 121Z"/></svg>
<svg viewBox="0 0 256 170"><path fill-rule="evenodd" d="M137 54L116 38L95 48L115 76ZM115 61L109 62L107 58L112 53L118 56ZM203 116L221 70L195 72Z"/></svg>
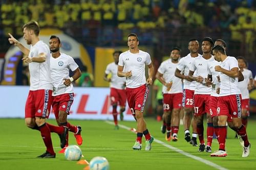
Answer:
<svg viewBox="0 0 256 170"><path fill-rule="evenodd" d="M29 57L37 57L40 53L46 53L45 62L29 63L30 90L49 89L52 90L52 80L50 78L50 50L49 46L38 41L30 46Z"/></svg>

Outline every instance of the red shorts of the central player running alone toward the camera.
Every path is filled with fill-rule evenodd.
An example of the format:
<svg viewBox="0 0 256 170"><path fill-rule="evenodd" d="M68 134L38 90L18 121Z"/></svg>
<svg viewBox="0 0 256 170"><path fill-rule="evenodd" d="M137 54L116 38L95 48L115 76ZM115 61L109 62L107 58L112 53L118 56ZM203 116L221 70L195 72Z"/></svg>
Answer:
<svg viewBox="0 0 256 170"><path fill-rule="evenodd" d="M137 88L126 88L127 102L133 114L135 110L143 112L149 91L145 84Z"/></svg>

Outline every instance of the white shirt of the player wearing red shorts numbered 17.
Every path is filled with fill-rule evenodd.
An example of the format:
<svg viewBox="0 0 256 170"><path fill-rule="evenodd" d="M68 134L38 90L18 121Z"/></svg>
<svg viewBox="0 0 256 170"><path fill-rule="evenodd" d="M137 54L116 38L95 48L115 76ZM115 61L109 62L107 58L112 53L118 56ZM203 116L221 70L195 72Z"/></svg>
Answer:
<svg viewBox="0 0 256 170"><path fill-rule="evenodd" d="M196 57L195 60L191 63L189 70L196 71L197 70L197 77L201 76L203 78L207 78L207 65L208 62L214 61L214 56L211 56L210 59L206 60L202 56ZM196 82L196 81L195 81ZM211 94L211 87L207 87L205 85L205 81L203 80L202 83L196 82L195 94Z"/></svg>

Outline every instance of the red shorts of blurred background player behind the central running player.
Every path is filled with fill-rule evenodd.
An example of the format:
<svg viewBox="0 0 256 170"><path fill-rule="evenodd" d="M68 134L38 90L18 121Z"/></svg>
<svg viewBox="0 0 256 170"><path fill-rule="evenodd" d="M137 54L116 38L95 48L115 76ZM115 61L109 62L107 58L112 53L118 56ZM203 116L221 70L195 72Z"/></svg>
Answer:
<svg viewBox="0 0 256 170"><path fill-rule="evenodd" d="M125 89L110 88L111 105L118 103L119 106L125 106L126 104L126 91Z"/></svg>

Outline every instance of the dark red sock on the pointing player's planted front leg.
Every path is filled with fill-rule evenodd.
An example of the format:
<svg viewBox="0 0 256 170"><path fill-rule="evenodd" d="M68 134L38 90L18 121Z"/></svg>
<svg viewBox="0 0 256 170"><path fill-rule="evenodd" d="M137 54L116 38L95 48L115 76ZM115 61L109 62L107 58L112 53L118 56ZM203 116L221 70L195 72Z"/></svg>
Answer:
<svg viewBox="0 0 256 170"><path fill-rule="evenodd" d="M52 146L51 131L50 131L48 125L44 124L38 128L41 132L42 140L44 140L44 143L46 145L46 151L52 155L55 155L53 146Z"/></svg>

